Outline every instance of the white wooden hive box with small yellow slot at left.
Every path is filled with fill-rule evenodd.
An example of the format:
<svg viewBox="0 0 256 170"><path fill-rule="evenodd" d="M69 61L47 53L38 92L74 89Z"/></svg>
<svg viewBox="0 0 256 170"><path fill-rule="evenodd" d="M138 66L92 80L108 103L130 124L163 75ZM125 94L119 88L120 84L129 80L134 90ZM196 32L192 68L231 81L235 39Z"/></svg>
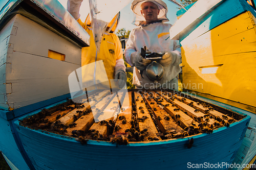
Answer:
<svg viewBox="0 0 256 170"><path fill-rule="evenodd" d="M20 14L0 31L0 48L5 110L69 93L68 76L81 66L81 47Z"/></svg>

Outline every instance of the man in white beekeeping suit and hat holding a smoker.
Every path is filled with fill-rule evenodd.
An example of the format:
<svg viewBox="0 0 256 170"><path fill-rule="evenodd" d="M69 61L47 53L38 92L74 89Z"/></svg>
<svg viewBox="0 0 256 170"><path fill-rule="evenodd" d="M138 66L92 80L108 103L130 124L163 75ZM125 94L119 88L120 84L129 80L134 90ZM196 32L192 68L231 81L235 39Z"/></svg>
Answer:
<svg viewBox="0 0 256 170"><path fill-rule="evenodd" d="M135 0L131 5L135 13L134 24L139 26L131 31L126 43L125 60L134 67L133 84L137 88L154 89L176 89L178 90L178 74L181 71L181 51L178 40L169 38L169 29L172 27L166 17L167 6L161 0ZM154 53L162 53L162 59L158 61L164 68L164 75L154 83L143 71L152 61L141 56L141 48L144 46Z"/></svg>

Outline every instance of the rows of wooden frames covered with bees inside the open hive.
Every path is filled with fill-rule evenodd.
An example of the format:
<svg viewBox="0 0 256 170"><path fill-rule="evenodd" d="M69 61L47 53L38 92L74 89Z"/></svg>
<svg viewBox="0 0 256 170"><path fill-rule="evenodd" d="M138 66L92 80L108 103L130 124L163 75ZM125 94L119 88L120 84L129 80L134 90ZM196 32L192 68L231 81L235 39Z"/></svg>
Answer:
<svg viewBox="0 0 256 170"><path fill-rule="evenodd" d="M75 137L82 144L87 140L104 140L126 145L212 133L243 118L181 95L170 91L130 90L117 97L110 91L95 90L89 95L89 103L68 100L24 118L20 125ZM129 100L124 100L125 97ZM126 109L122 107L125 103L129 105ZM111 116L100 118L105 115Z"/></svg>

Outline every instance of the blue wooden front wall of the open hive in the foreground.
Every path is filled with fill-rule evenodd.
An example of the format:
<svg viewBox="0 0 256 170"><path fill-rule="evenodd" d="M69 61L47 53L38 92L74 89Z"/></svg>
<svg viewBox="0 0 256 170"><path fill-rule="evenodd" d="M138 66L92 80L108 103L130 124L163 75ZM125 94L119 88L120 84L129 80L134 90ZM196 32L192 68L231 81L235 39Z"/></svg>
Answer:
<svg viewBox="0 0 256 170"><path fill-rule="evenodd" d="M33 114L36 114L34 112ZM23 117L25 118L25 117ZM135 142L129 145L75 138L15 126L36 169L187 169L187 163L231 163L243 141L250 116L214 130L180 139ZM194 144L187 149L188 140ZM226 168L217 168L226 169Z"/></svg>

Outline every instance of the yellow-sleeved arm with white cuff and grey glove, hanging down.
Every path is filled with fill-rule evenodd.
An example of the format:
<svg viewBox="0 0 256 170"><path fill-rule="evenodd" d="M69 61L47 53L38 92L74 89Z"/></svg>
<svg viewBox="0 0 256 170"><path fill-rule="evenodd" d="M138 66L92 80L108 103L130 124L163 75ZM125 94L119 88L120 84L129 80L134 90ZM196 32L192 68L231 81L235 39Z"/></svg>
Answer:
<svg viewBox="0 0 256 170"><path fill-rule="evenodd" d="M123 60L123 50L121 42L117 35L112 34L114 43L115 43L115 53L116 53L116 66L115 66L115 79L119 79L118 85L119 88L123 88L126 83L126 72L125 65Z"/></svg>

